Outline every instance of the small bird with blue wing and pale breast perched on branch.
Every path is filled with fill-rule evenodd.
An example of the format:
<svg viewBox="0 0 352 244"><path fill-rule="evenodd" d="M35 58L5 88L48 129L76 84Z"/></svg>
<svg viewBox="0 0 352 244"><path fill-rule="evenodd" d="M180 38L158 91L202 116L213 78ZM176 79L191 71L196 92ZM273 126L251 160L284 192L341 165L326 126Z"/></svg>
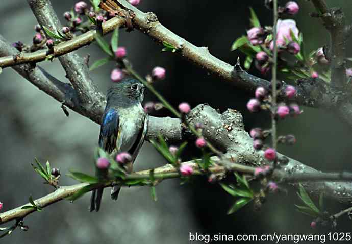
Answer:
<svg viewBox="0 0 352 244"><path fill-rule="evenodd" d="M132 78L124 78L114 83L107 92L107 104L102 118L99 147L107 153L128 152L132 162L142 147L148 127L148 115L144 112L142 101L145 86ZM96 168L96 175L104 177L107 172ZM104 188L93 191L90 212L99 211ZM111 190L111 198L117 200L119 186Z"/></svg>

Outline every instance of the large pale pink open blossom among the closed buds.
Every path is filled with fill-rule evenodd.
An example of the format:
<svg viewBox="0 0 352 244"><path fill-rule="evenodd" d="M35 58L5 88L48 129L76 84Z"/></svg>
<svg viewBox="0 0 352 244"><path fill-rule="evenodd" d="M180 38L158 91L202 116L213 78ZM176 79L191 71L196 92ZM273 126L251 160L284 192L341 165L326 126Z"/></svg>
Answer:
<svg viewBox="0 0 352 244"><path fill-rule="evenodd" d="M292 41L291 31L293 32L293 35L296 37L296 39L298 39L299 30L296 26L296 21L294 21L293 19L279 19L276 28L276 43L279 47L286 46L286 39L288 41ZM273 48L274 44L273 42L271 42L270 49L273 50Z"/></svg>

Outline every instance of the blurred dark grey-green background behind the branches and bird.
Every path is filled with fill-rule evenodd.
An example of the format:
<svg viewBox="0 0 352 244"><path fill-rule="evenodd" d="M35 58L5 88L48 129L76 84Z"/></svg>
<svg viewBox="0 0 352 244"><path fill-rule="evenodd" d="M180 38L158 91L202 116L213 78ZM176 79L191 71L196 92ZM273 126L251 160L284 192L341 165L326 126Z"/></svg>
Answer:
<svg viewBox="0 0 352 244"><path fill-rule="evenodd" d="M286 1L281 1L282 5ZM314 11L310 2L297 1L301 7L295 16L297 26L304 33L307 51L317 49L328 42L328 34L319 19L309 17ZM340 6L347 21L352 18L352 3L344 0L327 1L330 6ZM70 10L75 1L52 0L57 14ZM252 6L263 25L272 22L271 12L263 1L157 1L142 0L138 6L143 11L153 11L163 25L197 46L207 46L220 59L234 64L237 56L230 52L232 42L249 28L249 10ZM0 7L2 24L0 33L10 42L30 43L36 24L26 1L3 1ZM107 37L109 38L109 37ZM156 88L175 106L187 101L192 107L210 103L224 111L239 110L246 130L254 126L269 126L267 117L250 114L245 104L252 94L244 93L230 82L225 82L177 55L161 52L148 36L133 31L120 32L120 45L128 48L129 59L140 74L147 74L155 66L167 70L167 78ZM347 46L348 55L351 48ZM99 48L92 44L79 53L91 55L92 61L103 57ZM243 60L243 58L242 58ZM47 71L66 81L60 63L40 63ZM92 72L100 90L106 91L110 84L108 64ZM250 72L260 76L255 68ZM270 79L270 77L266 77ZM89 119L70 111L67 118L60 104L32 86L10 68L0 75L0 137L2 168L0 171L0 201L3 211L28 202L30 194L39 198L51 192L42 184L30 162L38 157L41 162L49 160L62 172L61 184L74 184L65 176L69 169L93 174L92 155L98 139L99 126ZM67 82L67 81L66 81ZM155 101L147 93L145 101ZM334 114L334 111L303 108L304 114L287 119L279 125L282 133L293 133L297 143L293 147L281 147L280 151L320 170L351 170L351 129ZM167 111L158 116L169 116ZM188 153L191 157L192 152ZM189 159L189 158L185 158ZM135 163L135 170L165 164L154 148L145 143ZM24 222L28 232L16 230L2 243L187 243L189 232L202 234L298 234L327 233L330 230L312 230L312 219L295 211L294 203L300 204L295 190L287 187L288 195L269 197L261 212L254 212L251 205L233 215L226 215L234 200L217 184L208 184L206 178L194 179L180 185L179 180L168 180L157 186L159 200L153 202L147 187L123 188L118 202L110 201L106 192L99 213L88 212L89 194L70 204L62 201L34 213ZM328 201L331 213L349 206ZM2 226L3 227L3 226ZM336 232L351 230L346 216L338 220ZM288 242L289 243L289 242Z"/></svg>

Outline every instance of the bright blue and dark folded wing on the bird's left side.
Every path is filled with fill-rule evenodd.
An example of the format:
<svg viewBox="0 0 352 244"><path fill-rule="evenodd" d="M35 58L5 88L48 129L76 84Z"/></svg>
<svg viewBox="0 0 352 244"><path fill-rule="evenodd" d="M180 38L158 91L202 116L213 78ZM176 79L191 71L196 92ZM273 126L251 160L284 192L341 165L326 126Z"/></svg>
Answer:
<svg viewBox="0 0 352 244"><path fill-rule="evenodd" d="M100 126L99 147L107 153L111 153L116 148L118 124L118 111L114 108L105 110L102 125Z"/></svg>

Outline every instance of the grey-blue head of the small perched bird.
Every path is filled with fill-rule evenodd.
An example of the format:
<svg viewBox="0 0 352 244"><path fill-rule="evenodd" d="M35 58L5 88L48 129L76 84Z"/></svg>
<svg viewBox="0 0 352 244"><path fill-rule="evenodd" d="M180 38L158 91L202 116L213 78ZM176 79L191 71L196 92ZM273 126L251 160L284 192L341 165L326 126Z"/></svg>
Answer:
<svg viewBox="0 0 352 244"><path fill-rule="evenodd" d="M120 82L114 83L107 94L108 102L116 101L120 103L141 103L144 98L145 86L133 78L124 78Z"/></svg>

